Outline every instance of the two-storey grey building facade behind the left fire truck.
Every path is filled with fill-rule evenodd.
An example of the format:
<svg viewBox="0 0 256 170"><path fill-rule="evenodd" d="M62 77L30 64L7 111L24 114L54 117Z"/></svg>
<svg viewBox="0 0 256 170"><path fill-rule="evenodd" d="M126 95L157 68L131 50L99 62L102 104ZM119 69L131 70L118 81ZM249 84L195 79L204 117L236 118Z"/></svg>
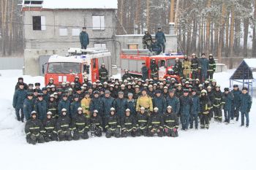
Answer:
<svg viewBox="0 0 256 170"><path fill-rule="evenodd" d="M79 2L83 3L65 7L50 6L49 0L23 1L24 74L42 74L42 63L50 55L66 55L69 47L80 47L79 34L84 26L90 38L88 47L106 47L115 53L117 1L113 7L80 6Z"/></svg>

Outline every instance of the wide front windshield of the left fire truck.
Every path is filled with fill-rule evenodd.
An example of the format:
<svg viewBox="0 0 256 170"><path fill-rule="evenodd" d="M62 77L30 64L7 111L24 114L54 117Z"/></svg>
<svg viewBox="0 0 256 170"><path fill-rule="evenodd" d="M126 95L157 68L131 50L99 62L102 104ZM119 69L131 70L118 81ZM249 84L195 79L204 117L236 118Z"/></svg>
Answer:
<svg viewBox="0 0 256 170"><path fill-rule="evenodd" d="M48 73L78 74L81 72L80 63L49 63Z"/></svg>

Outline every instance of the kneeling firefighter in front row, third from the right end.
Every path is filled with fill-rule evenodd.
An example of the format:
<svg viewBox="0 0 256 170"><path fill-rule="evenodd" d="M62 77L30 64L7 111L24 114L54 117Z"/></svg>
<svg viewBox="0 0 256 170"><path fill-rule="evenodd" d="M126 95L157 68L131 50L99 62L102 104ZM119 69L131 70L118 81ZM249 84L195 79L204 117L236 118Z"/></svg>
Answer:
<svg viewBox="0 0 256 170"><path fill-rule="evenodd" d="M140 107L140 112L137 115L137 136L148 136L148 115L145 108Z"/></svg>

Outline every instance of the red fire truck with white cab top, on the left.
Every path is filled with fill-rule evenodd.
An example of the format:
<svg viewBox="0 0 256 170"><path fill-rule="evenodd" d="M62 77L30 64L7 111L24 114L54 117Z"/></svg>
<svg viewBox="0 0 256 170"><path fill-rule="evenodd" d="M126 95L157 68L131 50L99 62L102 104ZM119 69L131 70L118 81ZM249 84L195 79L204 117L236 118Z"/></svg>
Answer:
<svg viewBox="0 0 256 170"><path fill-rule="evenodd" d="M69 48L68 53L67 56L50 56L48 63L45 63L47 65L46 72L45 67L42 68L42 72L45 73L45 85L48 84L50 78L53 78L53 84L56 86L59 86L61 82L73 82L75 77L79 77L80 83L83 83L84 77L95 82L99 79L100 63L105 63L106 68L111 69L111 67L109 69L111 54L108 50Z"/></svg>

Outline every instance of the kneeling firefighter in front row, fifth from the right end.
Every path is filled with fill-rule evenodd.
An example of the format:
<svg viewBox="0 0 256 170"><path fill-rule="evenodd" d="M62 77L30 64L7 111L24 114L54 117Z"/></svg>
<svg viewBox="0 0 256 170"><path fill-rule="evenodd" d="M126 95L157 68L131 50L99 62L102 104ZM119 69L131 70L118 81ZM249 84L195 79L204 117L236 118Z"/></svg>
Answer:
<svg viewBox="0 0 256 170"><path fill-rule="evenodd" d="M106 120L106 137L110 138L115 136L116 138L120 137L120 117L116 114L116 109L110 109L110 116Z"/></svg>

